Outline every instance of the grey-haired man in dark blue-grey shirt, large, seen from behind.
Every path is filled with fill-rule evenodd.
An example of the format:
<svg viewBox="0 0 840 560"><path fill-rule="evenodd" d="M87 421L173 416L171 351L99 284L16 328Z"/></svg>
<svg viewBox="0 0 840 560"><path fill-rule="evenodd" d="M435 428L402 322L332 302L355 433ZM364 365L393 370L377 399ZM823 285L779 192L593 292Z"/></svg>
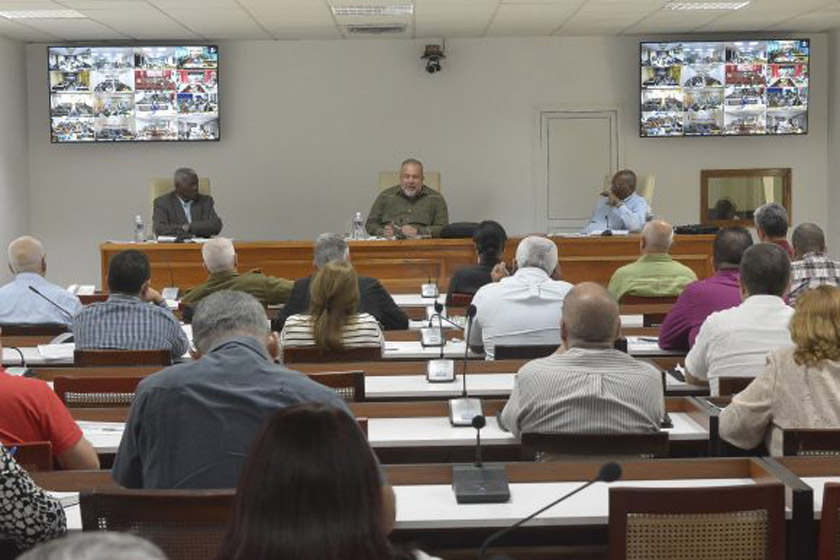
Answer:
<svg viewBox="0 0 840 560"><path fill-rule="evenodd" d="M277 335L254 296L198 304L194 360L140 382L112 475L127 488L233 488L265 421L300 402L347 410L335 391L274 361ZM349 413L349 412L348 412Z"/></svg>

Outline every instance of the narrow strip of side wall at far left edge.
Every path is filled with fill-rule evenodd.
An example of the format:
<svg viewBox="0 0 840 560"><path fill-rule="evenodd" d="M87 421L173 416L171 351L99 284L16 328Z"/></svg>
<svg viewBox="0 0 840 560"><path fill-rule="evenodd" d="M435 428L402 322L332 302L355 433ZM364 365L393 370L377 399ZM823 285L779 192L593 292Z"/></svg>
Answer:
<svg viewBox="0 0 840 560"><path fill-rule="evenodd" d="M29 228L24 45L0 37L0 247ZM0 258L0 282L11 277Z"/></svg>

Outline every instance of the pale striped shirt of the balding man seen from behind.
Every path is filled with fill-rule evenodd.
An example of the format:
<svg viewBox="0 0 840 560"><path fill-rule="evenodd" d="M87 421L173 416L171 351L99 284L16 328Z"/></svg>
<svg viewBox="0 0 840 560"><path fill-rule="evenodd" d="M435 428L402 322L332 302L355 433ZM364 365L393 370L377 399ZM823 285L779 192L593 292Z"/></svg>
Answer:
<svg viewBox="0 0 840 560"><path fill-rule="evenodd" d="M621 434L658 431L664 415L654 366L619 350L572 348L522 366L501 420L517 437Z"/></svg>

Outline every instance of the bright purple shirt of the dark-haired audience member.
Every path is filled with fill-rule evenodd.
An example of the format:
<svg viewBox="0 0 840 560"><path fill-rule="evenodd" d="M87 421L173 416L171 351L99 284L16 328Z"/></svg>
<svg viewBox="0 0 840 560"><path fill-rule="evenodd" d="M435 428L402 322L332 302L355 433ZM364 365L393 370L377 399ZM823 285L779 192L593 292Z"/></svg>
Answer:
<svg viewBox="0 0 840 560"><path fill-rule="evenodd" d="M737 268L726 268L686 286L659 329L659 347L690 350L706 317L741 305L740 280Z"/></svg>

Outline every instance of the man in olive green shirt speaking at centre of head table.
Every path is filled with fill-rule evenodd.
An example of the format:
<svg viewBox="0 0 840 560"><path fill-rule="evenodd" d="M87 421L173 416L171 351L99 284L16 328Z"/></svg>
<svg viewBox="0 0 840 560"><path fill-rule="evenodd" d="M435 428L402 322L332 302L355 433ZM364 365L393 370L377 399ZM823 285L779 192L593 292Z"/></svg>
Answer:
<svg viewBox="0 0 840 560"><path fill-rule="evenodd" d="M384 237L440 237L449 225L446 201L423 184L423 164L407 159L400 166L400 184L382 191L368 213L365 229Z"/></svg>

